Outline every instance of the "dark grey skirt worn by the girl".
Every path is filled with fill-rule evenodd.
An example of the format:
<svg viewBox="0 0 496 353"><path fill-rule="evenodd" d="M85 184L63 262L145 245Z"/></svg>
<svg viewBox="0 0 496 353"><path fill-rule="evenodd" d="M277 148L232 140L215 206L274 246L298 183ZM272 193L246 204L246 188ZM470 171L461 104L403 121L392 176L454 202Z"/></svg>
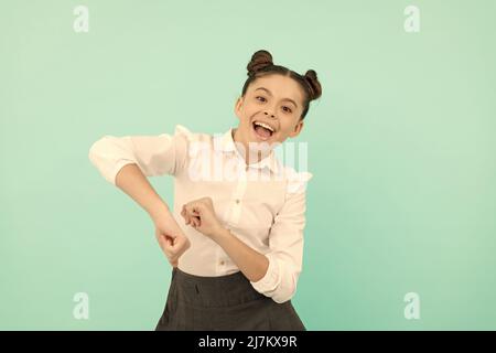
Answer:
<svg viewBox="0 0 496 353"><path fill-rule="evenodd" d="M241 271L220 277L172 270L157 331L306 331L291 300L277 303Z"/></svg>

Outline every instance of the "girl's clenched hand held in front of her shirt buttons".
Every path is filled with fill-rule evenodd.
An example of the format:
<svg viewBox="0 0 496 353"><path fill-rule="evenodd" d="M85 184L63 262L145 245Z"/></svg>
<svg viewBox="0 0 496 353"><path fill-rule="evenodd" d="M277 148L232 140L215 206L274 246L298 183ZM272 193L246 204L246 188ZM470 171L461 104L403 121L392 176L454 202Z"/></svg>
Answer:
<svg viewBox="0 0 496 353"><path fill-rule="evenodd" d="M186 225L191 224L192 227L208 237L215 236L222 229L211 197L203 197L184 204L181 215L184 217Z"/></svg>

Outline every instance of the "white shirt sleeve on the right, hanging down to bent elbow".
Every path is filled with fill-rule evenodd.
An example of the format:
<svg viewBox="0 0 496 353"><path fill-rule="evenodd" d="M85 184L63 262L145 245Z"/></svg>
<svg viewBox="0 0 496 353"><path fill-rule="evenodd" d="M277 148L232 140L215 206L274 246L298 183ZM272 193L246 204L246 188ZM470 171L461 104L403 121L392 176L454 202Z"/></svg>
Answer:
<svg viewBox="0 0 496 353"><path fill-rule="evenodd" d="M306 182L311 173L298 173L289 182L287 200L274 217L269 234L269 268L260 280L251 286L273 301L282 303L290 300L295 291L302 270L303 229L305 226Z"/></svg>

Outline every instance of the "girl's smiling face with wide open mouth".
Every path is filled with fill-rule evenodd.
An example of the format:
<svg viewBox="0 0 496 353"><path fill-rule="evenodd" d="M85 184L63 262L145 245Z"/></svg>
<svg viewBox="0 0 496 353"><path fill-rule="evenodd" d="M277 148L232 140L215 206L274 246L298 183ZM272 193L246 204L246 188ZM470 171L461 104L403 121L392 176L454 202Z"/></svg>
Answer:
<svg viewBox="0 0 496 353"><path fill-rule="evenodd" d="M303 128L303 98L302 88L291 77L270 74L255 79L235 105L239 118L235 141L248 150L249 143L272 146L296 137ZM261 124L269 129L259 127Z"/></svg>

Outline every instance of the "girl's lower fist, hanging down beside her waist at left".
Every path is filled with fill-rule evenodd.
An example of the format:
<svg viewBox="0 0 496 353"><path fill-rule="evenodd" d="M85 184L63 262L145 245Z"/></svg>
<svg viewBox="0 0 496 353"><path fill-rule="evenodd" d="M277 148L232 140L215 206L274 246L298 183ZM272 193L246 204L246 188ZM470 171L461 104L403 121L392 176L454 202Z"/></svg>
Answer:
<svg viewBox="0 0 496 353"><path fill-rule="evenodd" d="M190 239L184 235L172 214L164 214L153 220L155 237L172 267L177 267L181 255L190 248Z"/></svg>

